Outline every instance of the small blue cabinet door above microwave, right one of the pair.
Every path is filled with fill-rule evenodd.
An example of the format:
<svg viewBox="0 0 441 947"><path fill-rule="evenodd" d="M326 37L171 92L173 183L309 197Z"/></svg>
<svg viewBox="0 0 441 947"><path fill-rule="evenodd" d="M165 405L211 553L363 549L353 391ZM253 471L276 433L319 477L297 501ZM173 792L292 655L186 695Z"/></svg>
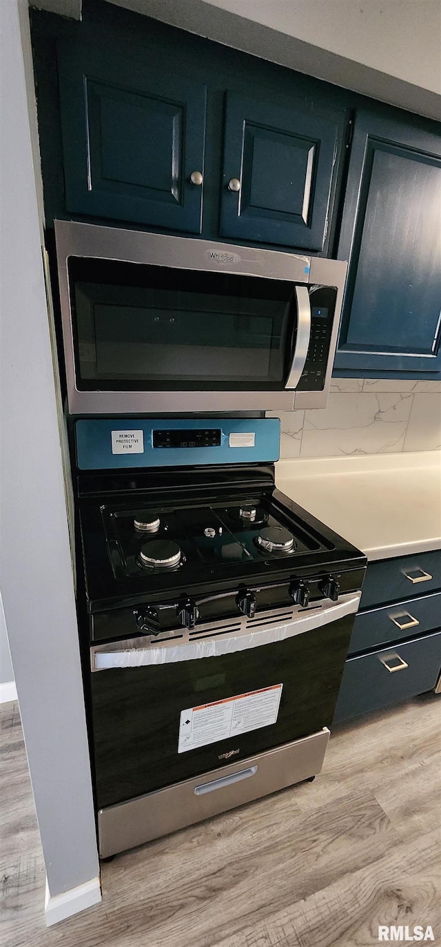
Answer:
<svg viewBox="0 0 441 947"><path fill-rule="evenodd" d="M322 250L337 143L337 122L228 93L221 235Z"/></svg>

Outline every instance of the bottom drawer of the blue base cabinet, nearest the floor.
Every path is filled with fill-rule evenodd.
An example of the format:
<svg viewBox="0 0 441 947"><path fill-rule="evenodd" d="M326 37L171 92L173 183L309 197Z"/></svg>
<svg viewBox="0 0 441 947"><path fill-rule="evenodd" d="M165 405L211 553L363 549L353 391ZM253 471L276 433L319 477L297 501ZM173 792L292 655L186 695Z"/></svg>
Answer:
<svg viewBox="0 0 441 947"><path fill-rule="evenodd" d="M432 690L440 668L441 631L348 658L333 723Z"/></svg>

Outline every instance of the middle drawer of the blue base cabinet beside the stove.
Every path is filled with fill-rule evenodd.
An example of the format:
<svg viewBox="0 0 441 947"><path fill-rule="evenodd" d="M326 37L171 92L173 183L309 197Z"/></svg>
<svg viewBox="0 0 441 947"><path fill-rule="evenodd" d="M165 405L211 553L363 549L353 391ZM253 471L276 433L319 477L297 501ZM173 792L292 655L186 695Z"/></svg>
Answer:
<svg viewBox="0 0 441 947"><path fill-rule="evenodd" d="M390 641L415 638L441 626L441 592L408 599L355 616L349 654L378 648Z"/></svg>

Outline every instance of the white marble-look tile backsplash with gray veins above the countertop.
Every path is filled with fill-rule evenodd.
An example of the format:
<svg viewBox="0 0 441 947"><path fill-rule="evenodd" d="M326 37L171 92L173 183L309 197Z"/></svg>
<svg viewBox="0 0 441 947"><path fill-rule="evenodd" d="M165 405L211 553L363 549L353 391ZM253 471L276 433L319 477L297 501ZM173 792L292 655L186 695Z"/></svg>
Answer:
<svg viewBox="0 0 441 947"><path fill-rule="evenodd" d="M441 449L441 382L335 378L326 408L268 415L281 420L281 457Z"/></svg>

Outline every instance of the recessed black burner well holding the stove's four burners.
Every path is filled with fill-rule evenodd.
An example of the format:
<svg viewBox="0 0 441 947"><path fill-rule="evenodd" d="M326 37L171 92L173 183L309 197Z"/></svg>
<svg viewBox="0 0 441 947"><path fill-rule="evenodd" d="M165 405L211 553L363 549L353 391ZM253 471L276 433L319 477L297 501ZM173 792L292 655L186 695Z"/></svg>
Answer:
<svg viewBox="0 0 441 947"><path fill-rule="evenodd" d="M136 578L150 587L159 576L171 578L171 572L181 572L182 581L197 581L207 566L221 574L231 563L291 559L324 548L286 516L274 515L265 496L228 506L105 505L101 515L115 579Z"/></svg>

